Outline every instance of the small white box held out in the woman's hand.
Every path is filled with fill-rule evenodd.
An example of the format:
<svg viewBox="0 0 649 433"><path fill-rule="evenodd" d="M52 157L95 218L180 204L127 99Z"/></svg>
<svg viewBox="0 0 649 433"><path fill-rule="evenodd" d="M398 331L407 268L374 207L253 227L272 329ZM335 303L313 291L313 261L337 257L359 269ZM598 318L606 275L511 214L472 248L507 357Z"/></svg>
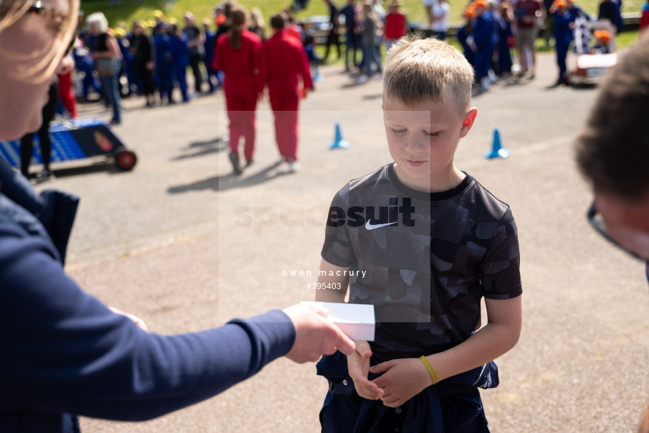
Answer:
<svg viewBox="0 0 649 433"><path fill-rule="evenodd" d="M352 340L374 341L374 305L348 303L321 303L303 300L301 304L324 307L329 310L327 320L339 327Z"/></svg>

